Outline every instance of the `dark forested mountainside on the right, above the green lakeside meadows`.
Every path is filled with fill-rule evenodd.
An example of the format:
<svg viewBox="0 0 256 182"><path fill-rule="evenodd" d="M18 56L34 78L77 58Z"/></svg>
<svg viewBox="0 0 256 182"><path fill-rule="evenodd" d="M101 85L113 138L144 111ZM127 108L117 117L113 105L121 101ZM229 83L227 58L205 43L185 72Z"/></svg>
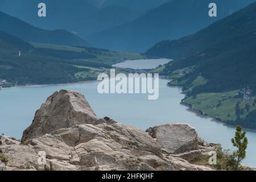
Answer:
<svg viewBox="0 0 256 182"><path fill-rule="evenodd" d="M256 3L179 40L165 41L146 55L174 57L166 71L196 67L209 80L194 92L217 92L250 86L256 90ZM212 82L211 82L212 81ZM201 90L203 89L203 90Z"/></svg>

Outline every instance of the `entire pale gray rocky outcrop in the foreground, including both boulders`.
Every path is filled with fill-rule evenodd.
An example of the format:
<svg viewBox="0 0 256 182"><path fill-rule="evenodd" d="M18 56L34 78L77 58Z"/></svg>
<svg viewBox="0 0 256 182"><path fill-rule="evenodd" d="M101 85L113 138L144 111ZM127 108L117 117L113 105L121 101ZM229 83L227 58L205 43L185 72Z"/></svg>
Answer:
<svg viewBox="0 0 256 182"><path fill-rule="evenodd" d="M55 92L36 111L22 143L3 136L0 141L0 154L8 159L0 161L0 170L212 170L186 158L214 150L187 124L145 132L97 119L84 96L68 90Z"/></svg>

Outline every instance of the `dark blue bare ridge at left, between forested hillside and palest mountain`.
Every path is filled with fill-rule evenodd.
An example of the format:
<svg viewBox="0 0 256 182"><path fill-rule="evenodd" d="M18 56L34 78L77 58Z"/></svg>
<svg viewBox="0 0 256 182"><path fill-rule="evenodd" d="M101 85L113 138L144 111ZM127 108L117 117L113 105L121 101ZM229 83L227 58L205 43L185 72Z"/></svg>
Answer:
<svg viewBox="0 0 256 182"><path fill-rule="evenodd" d="M65 30L48 31L23 22L0 11L0 30L18 36L27 42L40 42L67 46L88 46L85 40Z"/></svg>

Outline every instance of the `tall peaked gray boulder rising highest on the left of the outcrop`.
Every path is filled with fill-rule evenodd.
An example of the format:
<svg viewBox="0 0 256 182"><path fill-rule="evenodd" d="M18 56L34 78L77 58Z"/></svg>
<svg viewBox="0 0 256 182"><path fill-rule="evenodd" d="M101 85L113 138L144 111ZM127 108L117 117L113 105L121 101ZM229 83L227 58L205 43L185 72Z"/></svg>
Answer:
<svg viewBox="0 0 256 182"><path fill-rule="evenodd" d="M22 143L27 139L40 137L55 130L80 125L95 124L96 114L81 93L60 90L47 98L36 111L34 121L23 132Z"/></svg>

